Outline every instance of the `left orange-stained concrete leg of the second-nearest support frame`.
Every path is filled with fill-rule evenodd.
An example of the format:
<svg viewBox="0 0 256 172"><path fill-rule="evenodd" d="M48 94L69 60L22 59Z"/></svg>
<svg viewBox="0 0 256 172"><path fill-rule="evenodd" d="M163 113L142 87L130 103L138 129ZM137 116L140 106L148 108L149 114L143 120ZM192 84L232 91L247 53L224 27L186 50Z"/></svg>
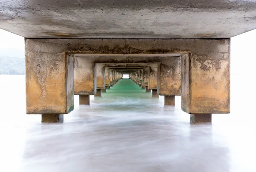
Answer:
<svg viewBox="0 0 256 172"><path fill-rule="evenodd" d="M74 77L75 95L95 95L96 66L91 59L75 57Z"/></svg>

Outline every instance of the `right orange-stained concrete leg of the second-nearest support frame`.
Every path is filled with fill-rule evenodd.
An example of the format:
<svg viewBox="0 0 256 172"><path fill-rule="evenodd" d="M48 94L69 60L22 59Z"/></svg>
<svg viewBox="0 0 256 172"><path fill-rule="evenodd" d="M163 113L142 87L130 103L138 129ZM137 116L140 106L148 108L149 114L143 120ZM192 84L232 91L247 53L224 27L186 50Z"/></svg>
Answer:
<svg viewBox="0 0 256 172"><path fill-rule="evenodd" d="M158 95L180 95L180 78L180 57L164 58L157 72Z"/></svg>

